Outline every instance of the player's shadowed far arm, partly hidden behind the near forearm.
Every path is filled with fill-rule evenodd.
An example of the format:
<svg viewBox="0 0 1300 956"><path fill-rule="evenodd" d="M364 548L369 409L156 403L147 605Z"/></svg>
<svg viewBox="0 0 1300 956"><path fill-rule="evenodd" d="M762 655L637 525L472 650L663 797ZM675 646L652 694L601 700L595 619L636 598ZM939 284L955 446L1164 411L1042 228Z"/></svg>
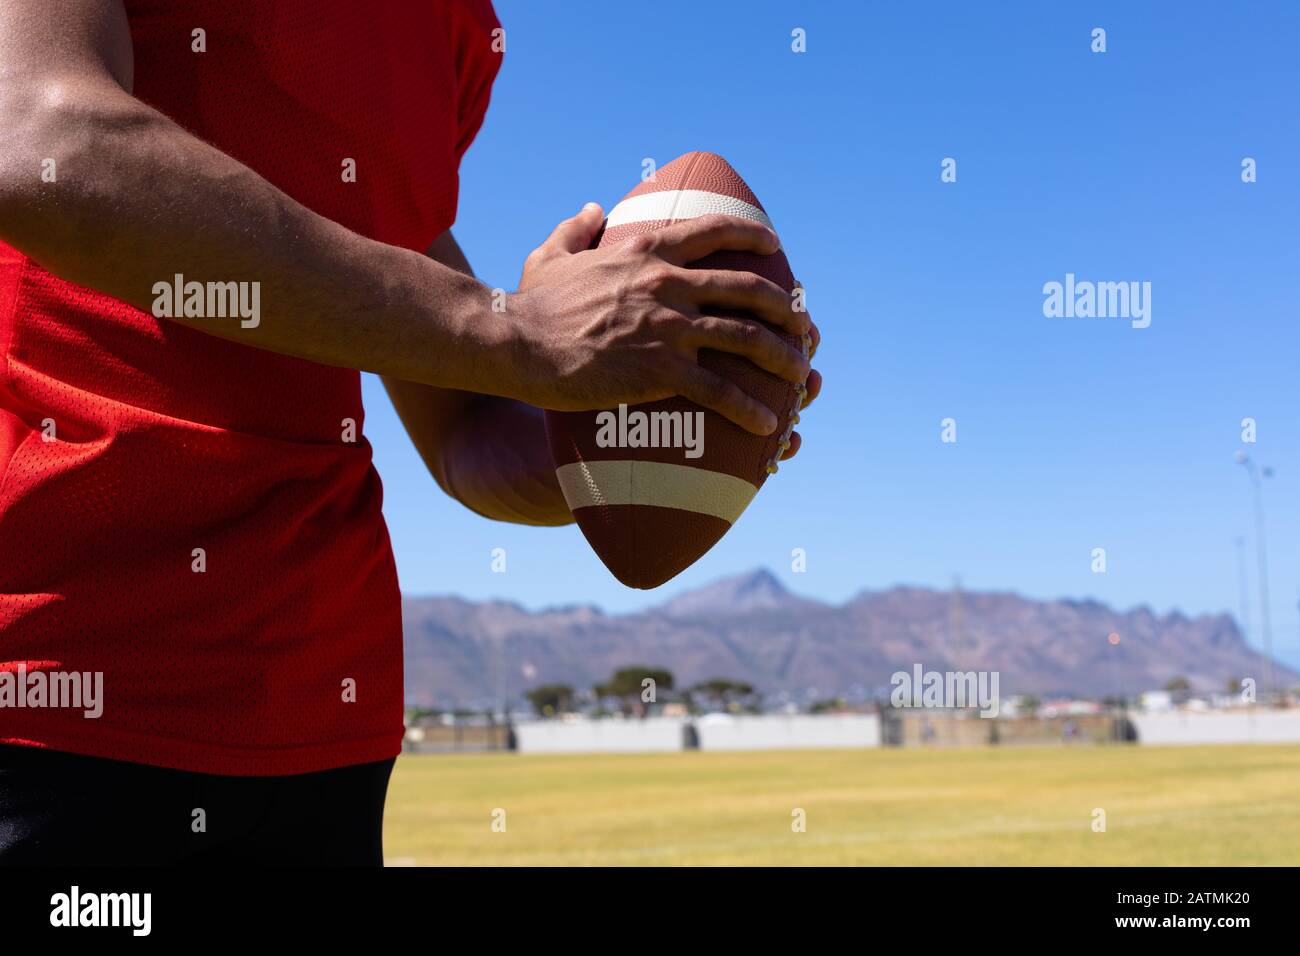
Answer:
<svg viewBox="0 0 1300 956"><path fill-rule="evenodd" d="M467 276L469 260L450 232L429 256ZM429 472L448 496L486 518L516 524L569 524L538 408L384 377L393 406Z"/></svg>

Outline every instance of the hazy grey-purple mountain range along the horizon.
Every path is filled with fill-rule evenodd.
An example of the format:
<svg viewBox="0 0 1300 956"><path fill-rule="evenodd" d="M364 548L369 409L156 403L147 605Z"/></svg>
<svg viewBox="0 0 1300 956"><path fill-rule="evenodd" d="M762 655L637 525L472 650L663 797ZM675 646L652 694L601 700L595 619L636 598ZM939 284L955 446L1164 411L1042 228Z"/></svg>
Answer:
<svg viewBox="0 0 1300 956"><path fill-rule="evenodd" d="M915 663L996 670L1004 697L1134 695L1175 676L1200 692L1222 691L1228 678L1264 683L1260 654L1228 614L1157 617L1096 601L906 587L828 605L762 570L637 614L455 597L406 598L403 613L407 701L417 706L481 705L542 683L588 688L637 663L671 670L679 684L732 678L803 702L883 693L890 674ZM1282 665L1277 674L1296 680Z"/></svg>

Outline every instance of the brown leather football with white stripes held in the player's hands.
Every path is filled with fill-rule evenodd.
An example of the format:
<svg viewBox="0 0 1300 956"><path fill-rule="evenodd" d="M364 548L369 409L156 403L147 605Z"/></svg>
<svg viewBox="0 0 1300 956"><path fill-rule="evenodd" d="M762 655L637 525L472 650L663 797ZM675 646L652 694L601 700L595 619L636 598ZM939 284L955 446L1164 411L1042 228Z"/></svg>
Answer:
<svg viewBox="0 0 1300 956"><path fill-rule="evenodd" d="M624 242L708 213L772 225L727 160L711 152L688 152L614 207L598 245ZM794 291L784 251L768 256L716 252L690 265L755 272ZM807 355L809 337L780 334ZM776 432L751 434L684 398L604 411L546 412L564 499L601 561L629 588L656 588L712 548L776 472L798 421L802 384L712 350L699 352L699 364L776 412Z"/></svg>

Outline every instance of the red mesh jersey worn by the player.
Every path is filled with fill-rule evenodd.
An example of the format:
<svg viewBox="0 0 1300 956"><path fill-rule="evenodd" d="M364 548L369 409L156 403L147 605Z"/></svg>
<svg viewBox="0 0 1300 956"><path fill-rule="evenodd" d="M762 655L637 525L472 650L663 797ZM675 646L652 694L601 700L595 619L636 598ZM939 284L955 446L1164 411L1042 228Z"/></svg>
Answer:
<svg viewBox="0 0 1300 956"><path fill-rule="evenodd" d="M499 65L489 0L126 9L135 95L195 135L370 238L422 251L452 224ZM0 706L0 743L248 775L396 754L396 574L346 419L360 433L358 372L0 245L0 671L103 674L101 717Z"/></svg>

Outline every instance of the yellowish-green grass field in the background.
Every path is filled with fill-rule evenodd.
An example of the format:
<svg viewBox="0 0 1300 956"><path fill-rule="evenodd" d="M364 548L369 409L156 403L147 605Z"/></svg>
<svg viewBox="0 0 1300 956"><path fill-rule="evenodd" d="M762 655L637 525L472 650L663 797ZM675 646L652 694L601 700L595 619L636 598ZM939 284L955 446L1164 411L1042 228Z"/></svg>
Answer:
<svg viewBox="0 0 1300 956"><path fill-rule="evenodd" d="M385 849L389 865L1296 865L1300 747L403 756Z"/></svg>

